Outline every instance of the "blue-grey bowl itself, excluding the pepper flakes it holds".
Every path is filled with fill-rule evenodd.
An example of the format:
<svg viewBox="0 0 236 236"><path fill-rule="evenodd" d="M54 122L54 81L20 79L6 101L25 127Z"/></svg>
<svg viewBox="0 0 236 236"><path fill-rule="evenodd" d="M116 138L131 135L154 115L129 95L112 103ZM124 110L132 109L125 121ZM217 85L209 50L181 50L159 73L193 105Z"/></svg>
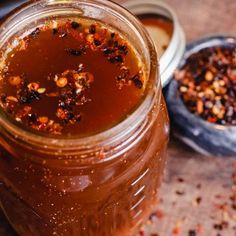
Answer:
<svg viewBox="0 0 236 236"><path fill-rule="evenodd" d="M189 44L179 68L184 66L186 59L193 53L213 46L236 48L236 36L212 36ZM236 156L236 126L212 124L190 113L179 95L178 83L174 79L165 95L172 130L178 138L204 155Z"/></svg>

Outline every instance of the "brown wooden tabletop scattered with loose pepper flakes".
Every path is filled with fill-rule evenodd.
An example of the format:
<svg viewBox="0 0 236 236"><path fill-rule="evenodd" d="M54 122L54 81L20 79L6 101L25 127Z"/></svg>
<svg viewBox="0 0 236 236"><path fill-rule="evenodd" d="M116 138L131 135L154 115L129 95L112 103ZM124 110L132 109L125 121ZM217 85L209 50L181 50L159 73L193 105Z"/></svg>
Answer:
<svg viewBox="0 0 236 236"><path fill-rule="evenodd" d="M177 12L188 42L236 35L235 0L165 2ZM204 157L174 138L168 154L157 218L148 222L148 229L158 236L235 236L236 158Z"/></svg>

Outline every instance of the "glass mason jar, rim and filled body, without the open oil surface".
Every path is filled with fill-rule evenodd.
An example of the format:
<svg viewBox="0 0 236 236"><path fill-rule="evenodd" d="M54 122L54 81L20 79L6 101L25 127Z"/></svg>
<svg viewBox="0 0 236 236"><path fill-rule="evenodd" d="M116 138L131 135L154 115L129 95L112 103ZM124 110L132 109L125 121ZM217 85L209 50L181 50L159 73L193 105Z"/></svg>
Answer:
<svg viewBox="0 0 236 236"><path fill-rule="evenodd" d="M2 23L0 50L45 19L72 16L123 32L145 66L145 97L120 124L85 138L28 130L0 109L1 207L20 235L133 235L157 202L169 132L156 52L142 25L110 1L32 1Z"/></svg>

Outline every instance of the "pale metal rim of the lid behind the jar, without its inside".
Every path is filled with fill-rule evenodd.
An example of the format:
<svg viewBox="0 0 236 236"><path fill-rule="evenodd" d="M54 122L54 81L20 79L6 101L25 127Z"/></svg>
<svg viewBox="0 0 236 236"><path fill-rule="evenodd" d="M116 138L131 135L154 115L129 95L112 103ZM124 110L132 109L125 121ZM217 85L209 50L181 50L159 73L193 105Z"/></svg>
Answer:
<svg viewBox="0 0 236 236"><path fill-rule="evenodd" d="M166 86L183 57L186 40L183 29L175 12L161 0L125 0L122 5L134 15L156 14L173 22L171 41L160 58L160 74L162 86Z"/></svg>

